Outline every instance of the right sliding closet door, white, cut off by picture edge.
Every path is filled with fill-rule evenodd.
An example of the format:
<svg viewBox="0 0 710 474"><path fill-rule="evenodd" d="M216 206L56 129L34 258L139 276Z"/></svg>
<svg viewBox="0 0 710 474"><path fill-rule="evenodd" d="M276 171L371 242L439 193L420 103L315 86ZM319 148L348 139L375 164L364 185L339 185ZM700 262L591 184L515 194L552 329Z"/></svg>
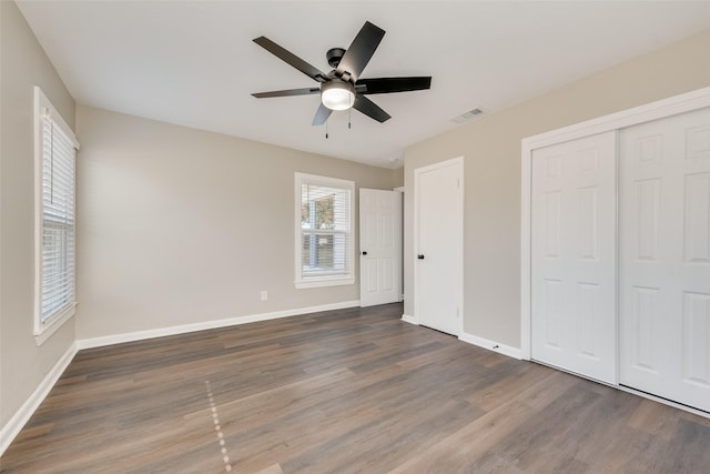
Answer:
<svg viewBox="0 0 710 474"><path fill-rule="evenodd" d="M620 143L620 383L710 411L710 109Z"/></svg>

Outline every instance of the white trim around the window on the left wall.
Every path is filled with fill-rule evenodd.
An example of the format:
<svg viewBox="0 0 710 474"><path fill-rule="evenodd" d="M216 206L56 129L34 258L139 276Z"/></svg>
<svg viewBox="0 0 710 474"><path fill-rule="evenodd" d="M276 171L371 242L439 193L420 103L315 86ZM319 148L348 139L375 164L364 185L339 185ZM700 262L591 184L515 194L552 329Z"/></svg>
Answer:
<svg viewBox="0 0 710 474"><path fill-rule="evenodd" d="M34 314L33 314L33 334L37 345L41 345L57 330L59 330L67 321L69 321L77 312L77 264L74 260L74 301L62 311L53 314L45 321L42 321L42 234L43 234L43 195L42 195L42 174L43 174L43 119L49 115L67 135L75 150L79 150L79 142L74 132L67 124L64 119L52 103L49 101L44 92L34 87ZM74 179L74 194L75 194ZM77 235L75 223L75 202L74 202L74 240ZM75 246L75 244L74 244ZM75 259L75 251L74 251Z"/></svg>

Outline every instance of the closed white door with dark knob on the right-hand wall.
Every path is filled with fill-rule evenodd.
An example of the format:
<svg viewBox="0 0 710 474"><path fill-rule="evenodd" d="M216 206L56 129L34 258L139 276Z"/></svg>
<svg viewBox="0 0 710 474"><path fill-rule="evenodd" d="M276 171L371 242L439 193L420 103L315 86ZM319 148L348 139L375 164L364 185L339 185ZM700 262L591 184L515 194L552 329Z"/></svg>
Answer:
<svg viewBox="0 0 710 474"><path fill-rule="evenodd" d="M414 311L419 324L462 333L464 161L414 170Z"/></svg>

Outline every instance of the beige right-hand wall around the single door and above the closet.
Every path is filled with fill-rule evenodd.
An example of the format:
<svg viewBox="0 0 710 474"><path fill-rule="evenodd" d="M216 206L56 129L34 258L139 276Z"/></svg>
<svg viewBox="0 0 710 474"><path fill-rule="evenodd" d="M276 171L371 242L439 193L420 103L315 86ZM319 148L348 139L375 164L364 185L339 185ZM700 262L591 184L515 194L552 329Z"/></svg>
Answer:
<svg viewBox="0 0 710 474"><path fill-rule="evenodd" d="M519 347L520 141L708 87L709 51L710 31L706 31L409 147L405 152L405 295L414 292L414 170L463 155L464 331ZM412 300L405 301L409 315L414 315Z"/></svg>

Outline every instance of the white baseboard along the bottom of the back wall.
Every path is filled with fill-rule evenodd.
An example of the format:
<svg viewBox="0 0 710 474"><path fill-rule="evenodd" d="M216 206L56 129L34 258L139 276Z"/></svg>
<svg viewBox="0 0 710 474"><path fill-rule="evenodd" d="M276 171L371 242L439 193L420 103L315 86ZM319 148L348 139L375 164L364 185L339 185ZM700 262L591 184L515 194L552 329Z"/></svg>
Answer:
<svg viewBox="0 0 710 474"><path fill-rule="evenodd" d="M227 317L224 320L205 321L202 323L182 324L179 326L161 327L155 330L135 331L123 334L113 334L102 337L90 337L77 341L78 349L103 347L105 345L121 344L123 342L143 341L166 335L185 334L190 332L227 327L239 324L255 323L258 321L276 320L278 317L297 316L321 311L343 310L359 306L359 300L344 301L341 303L322 304L318 306L298 307L295 310L274 311L272 313L248 314L245 316Z"/></svg>

